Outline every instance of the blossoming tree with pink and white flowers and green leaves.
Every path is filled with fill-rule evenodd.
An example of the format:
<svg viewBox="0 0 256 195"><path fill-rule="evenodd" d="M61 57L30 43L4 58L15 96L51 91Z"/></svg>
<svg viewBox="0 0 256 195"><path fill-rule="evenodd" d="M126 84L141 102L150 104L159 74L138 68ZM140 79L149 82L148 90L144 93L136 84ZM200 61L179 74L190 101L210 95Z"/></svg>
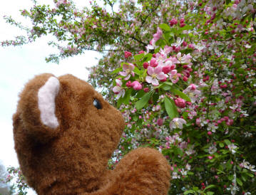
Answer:
<svg viewBox="0 0 256 195"><path fill-rule="evenodd" d="M111 169L130 149L155 147L172 167L170 194L256 193L255 1L34 3L21 11L32 28L6 17L27 36L1 44L51 34L60 53L47 61L103 53L89 80L126 119Z"/></svg>

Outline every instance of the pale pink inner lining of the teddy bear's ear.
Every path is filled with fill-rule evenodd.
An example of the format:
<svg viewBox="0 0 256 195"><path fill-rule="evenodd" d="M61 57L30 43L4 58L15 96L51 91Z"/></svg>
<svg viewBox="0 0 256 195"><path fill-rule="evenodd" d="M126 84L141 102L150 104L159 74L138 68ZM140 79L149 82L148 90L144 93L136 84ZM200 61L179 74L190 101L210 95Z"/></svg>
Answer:
<svg viewBox="0 0 256 195"><path fill-rule="evenodd" d="M58 78L51 77L39 89L38 93L41 122L53 129L58 127L58 119L55 115L55 97L58 95L59 87Z"/></svg>

